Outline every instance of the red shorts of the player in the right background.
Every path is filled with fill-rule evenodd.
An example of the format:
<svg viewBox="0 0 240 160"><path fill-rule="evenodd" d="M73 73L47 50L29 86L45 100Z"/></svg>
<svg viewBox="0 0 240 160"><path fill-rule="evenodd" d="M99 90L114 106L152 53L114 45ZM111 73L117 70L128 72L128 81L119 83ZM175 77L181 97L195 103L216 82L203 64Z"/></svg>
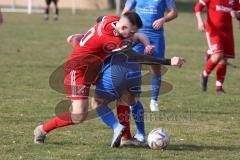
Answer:
<svg viewBox="0 0 240 160"><path fill-rule="evenodd" d="M223 53L225 58L235 58L233 31L206 32L206 38L211 54Z"/></svg>

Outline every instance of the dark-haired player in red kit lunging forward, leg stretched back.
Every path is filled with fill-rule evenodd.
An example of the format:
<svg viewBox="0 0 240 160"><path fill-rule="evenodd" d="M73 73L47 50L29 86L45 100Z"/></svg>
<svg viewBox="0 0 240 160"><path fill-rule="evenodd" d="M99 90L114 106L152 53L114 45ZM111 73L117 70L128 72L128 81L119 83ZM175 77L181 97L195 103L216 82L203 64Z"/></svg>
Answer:
<svg viewBox="0 0 240 160"><path fill-rule="evenodd" d="M96 81L103 61L112 50L124 45L123 40L133 37L141 26L140 17L128 12L121 17L103 17L84 35L65 63L64 84L67 98L72 101L72 110L36 127L36 144L44 143L46 134L53 129L79 124L86 119L89 88ZM120 135L124 129L123 126L117 127L117 134Z"/></svg>

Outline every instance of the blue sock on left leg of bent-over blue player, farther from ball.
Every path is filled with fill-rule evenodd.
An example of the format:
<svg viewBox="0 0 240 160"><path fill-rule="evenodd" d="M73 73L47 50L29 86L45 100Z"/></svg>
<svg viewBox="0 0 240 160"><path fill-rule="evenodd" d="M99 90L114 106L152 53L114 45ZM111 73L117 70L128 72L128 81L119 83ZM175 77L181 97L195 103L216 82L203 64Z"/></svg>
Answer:
<svg viewBox="0 0 240 160"><path fill-rule="evenodd" d="M120 123L114 116L114 113L110 108L104 105L98 105L96 108L97 115L99 119L105 123L108 127L110 127L113 131L118 128Z"/></svg>

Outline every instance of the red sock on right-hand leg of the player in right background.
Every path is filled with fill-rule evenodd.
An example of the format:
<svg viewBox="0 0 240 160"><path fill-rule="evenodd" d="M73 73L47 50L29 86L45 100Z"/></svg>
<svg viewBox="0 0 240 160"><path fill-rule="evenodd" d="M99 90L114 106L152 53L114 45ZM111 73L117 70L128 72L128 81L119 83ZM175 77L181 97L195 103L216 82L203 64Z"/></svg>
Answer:
<svg viewBox="0 0 240 160"><path fill-rule="evenodd" d="M226 73L227 73L227 65L218 64L216 67L216 76L217 76L216 89L222 89Z"/></svg>

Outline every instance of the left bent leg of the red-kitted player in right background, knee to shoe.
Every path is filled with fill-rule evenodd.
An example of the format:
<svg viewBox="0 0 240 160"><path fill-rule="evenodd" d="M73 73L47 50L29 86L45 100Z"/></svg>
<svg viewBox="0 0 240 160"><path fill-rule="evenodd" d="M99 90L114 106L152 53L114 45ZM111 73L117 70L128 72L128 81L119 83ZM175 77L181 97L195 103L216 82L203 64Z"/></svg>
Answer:
<svg viewBox="0 0 240 160"><path fill-rule="evenodd" d="M215 54L212 54L211 57L208 59L205 66L205 70L200 75L200 86L202 91L204 92L207 91L208 76L222 58L223 58L223 53L215 53Z"/></svg>

